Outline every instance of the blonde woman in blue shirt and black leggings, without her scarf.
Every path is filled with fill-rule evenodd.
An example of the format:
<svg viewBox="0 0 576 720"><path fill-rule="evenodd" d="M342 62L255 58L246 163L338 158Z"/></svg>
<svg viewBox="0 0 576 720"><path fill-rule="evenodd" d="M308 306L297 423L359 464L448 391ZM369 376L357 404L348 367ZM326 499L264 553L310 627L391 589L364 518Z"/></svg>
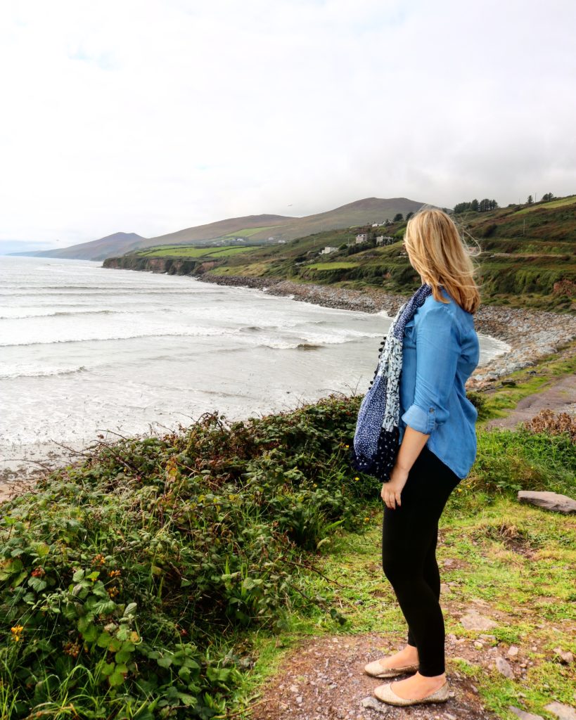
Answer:
<svg viewBox="0 0 576 720"><path fill-rule="evenodd" d="M420 210L406 226L404 246L422 283L432 289L405 326L400 449L381 493L382 569L407 621L408 642L365 667L377 678L416 671L375 688L379 700L395 705L443 702L449 696L438 602L438 520L476 457L478 413L464 384L480 357L473 319L480 293L453 220L441 210Z"/></svg>

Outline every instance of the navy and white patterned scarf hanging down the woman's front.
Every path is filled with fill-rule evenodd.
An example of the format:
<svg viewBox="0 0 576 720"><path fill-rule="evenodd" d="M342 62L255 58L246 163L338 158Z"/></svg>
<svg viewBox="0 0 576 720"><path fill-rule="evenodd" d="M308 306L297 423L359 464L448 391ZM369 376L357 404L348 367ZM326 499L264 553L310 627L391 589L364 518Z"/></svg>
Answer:
<svg viewBox="0 0 576 720"><path fill-rule="evenodd" d="M374 379L360 405L350 464L355 470L377 477L382 482L390 480L399 450L404 328L430 294L430 285L420 285L396 313L387 336L384 336L384 349L380 353Z"/></svg>

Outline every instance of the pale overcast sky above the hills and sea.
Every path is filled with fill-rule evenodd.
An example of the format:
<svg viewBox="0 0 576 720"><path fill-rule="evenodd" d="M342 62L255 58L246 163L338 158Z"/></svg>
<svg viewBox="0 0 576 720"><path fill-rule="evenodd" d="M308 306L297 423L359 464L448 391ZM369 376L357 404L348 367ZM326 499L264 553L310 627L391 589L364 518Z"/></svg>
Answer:
<svg viewBox="0 0 576 720"><path fill-rule="evenodd" d="M576 192L572 0L4 0L0 241Z"/></svg>

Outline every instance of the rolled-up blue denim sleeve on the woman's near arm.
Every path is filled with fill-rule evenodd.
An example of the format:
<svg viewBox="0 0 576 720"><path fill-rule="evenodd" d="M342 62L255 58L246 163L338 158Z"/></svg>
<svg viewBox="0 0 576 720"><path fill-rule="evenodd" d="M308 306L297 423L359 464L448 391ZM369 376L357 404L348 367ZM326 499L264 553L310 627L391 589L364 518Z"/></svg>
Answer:
<svg viewBox="0 0 576 720"><path fill-rule="evenodd" d="M429 435L448 420L459 356L454 318L444 307L431 308L416 328L414 402L402 415L406 425Z"/></svg>

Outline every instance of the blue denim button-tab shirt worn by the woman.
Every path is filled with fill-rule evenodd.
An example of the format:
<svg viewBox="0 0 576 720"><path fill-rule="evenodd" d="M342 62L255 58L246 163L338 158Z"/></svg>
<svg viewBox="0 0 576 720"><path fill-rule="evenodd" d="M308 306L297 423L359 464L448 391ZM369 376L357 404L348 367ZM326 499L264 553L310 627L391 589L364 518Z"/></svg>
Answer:
<svg viewBox="0 0 576 720"><path fill-rule="evenodd" d="M400 372L400 442L405 427L429 434L426 441L459 478L476 459L478 411L466 397L464 384L480 359L474 316L458 305L429 295L406 323Z"/></svg>

